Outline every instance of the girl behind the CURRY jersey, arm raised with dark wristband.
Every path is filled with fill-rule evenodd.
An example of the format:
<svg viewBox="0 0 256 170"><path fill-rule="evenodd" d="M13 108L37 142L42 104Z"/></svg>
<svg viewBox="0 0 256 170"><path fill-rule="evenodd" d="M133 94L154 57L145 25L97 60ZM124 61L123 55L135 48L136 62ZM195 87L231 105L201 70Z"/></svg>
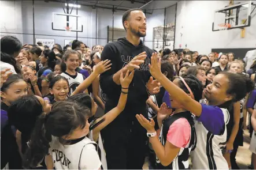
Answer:
<svg viewBox="0 0 256 170"><path fill-rule="evenodd" d="M116 117L124 110L127 95L128 95L128 87L132 81L134 71L131 74L128 73L123 78L123 73L120 75L120 83L122 86L120 99L118 101L117 107L113 108L101 118L94 118L94 115L97 111L97 104L94 102L90 95L86 95L84 93L80 93L78 95L74 95L69 97L68 101L76 101L80 105L87 106L91 110L91 115L89 118L90 123L90 133L88 137L98 143L99 145L99 156L102 162L102 169L107 169L106 156L103 148L103 142L101 139L101 130L107 126L107 124L111 123Z"/></svg>

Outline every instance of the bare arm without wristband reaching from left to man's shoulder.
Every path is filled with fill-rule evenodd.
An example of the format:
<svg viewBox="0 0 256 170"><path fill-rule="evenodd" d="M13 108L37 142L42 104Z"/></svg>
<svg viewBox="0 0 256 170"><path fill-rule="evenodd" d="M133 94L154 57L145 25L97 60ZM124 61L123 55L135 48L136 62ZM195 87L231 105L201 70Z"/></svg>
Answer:
<svg viewBox="0 0 256 170"><path fill-rule="evenodd" d="M98 63L97 66L95 66L95 71L92 72L89 77L86 78L86 80L84 80L79 86L77 86L76 90L72 93L71 96L76 95L78 93L82 93L84 90L86 90L88 88L88 86L90 86L92 84L92 81L94 81L95 78L97 78L97 76L107 70L111 69L111 65L109 64L110 61L109 60L105 60L105 61L101 61Z"/></svg>

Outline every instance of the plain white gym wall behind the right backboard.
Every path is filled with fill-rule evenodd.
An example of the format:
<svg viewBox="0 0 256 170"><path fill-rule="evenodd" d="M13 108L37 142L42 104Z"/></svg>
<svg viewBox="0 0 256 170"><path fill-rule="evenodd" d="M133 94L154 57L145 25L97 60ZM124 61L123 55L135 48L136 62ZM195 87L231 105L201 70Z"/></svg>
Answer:
<svg viewBox="0 0 256 170"><path fill-rule="evenodd" d="M244 1L234 1L234 3ZM253 1L256 4L256 1ZM246 27L244 38L240 29L212 31L214 10L228 5L228 1L180 1L177 5L175 48L187 48L209 54L212 48L256 47L256 10L252 14L251 26ZM181 36L181 33L183 34ZM244 57L244 56L240 56Z"/></svg>

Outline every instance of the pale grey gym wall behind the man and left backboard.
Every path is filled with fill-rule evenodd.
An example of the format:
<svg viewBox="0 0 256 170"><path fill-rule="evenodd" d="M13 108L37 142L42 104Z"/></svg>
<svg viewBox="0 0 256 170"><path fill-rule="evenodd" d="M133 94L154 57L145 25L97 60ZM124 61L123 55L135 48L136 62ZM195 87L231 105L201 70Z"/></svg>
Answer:
<svg viewBox="0 0 256 170"><path fill-rule="evenodd" d="M23 43L32 44L34 42L32 1L1 1L0 3L1 36L16 36ZM163 8L151 10L157 9L159 3L161 3L161 6L163 4L166 6L170 6L170 3L173 4L171 1L154 1L147 6L147 9L149 9L146 11L148 21L147 36L144 39L144 43L150 48L153 48L153 28L164 25L164 23L174 22L175 18L175 5L166 8L166 15ZM55 43L61 44L61 46L64 46L64 40L76 39L76 32L55 31L51 29L53 12L64 13L62 6L65 9L64 3L34 1L35 38L55 39ZM123 13L124 11L122 10L114 12L114 28L123 29ZM76 14L75 7L72 14ZM98 7L92 9L91 6L81 5L78 8L78 15L83 17L81 20L83 32L77 33L77 39L83 41L89 47L95 44L105 46L107 44L107 26L113 26L112 10ZM165 22L164 18L166 19ZM54 24L58 24L58 21L54 22Z"/></svg>

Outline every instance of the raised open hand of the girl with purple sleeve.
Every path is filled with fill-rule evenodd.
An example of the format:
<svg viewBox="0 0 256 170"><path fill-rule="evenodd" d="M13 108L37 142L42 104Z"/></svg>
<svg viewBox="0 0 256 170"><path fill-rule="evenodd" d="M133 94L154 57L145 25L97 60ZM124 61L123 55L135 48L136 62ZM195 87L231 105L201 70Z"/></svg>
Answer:
<svg viewBox="0 0 256 170"><path fill-rule="evenodd" d="M151 75L153 75L153 77L155 79L157 79L157 77L159 75L162 74L161 72L161 58L157 58L157 52L154 52L151 56L151 64L149 64L150 67L150 73Z"/></svg>

